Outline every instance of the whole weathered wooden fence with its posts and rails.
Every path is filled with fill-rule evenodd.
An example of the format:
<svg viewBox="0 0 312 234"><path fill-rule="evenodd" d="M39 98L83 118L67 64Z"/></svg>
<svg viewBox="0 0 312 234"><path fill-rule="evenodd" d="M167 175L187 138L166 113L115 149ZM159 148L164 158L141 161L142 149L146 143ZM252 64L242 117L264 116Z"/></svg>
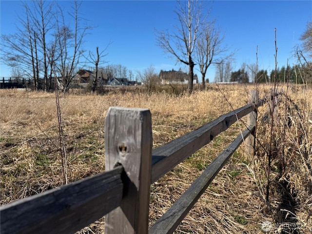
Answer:
<svg viewBox="0 0 312 234"><path fill-rule="evenodd" d="M105 118L106 172L1 206L1 234L75 233L103 215L106 234L173 233L238 146L253 135L256 108L267 101L258 101L257 95L251 92L251 103L153 151L150 111L110 107ZM246 115L246 130L149 230L150 185ZM249 142L253 146L253 138Z"/></svg>

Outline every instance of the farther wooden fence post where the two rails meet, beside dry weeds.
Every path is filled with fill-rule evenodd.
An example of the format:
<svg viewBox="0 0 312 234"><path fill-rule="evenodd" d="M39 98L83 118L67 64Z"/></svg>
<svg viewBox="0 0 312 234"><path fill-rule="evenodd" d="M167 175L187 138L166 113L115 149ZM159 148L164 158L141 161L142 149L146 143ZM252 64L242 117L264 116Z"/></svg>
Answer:
<svg viewBox="0 0 312 234"><path fill-rule="evenodd" d="M255 107L256 104L258 103L258 95L259 95L258 91L255 90L249 91L250 96L249 103L251 103ZM247 116L247 127L250 129L250 126L256 126L256 121L257 121L257 110L254 109L254 111L252 111ZM255 143L255 129L246 140L247 158L249 155L252 156L252 158L254 158L254 143Z"/></svg>

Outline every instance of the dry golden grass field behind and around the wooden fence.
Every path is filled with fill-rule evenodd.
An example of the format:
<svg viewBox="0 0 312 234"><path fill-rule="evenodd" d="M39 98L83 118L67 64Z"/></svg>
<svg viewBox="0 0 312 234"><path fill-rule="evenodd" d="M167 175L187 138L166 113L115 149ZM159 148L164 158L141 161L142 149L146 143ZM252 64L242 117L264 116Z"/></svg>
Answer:
<svg viewBox="0 0 312 234"><path fill-rule="evenodd" d="M260 98L269 93L268 85L258 88ZM290 99L282 98L277 106L273 131L266 120L266 105L259 108L256 156L245 156L242 145L176 233L258 234L263 233L264 221L275 223L271 233L312 233L312 90L287 84L278 88ZM248 91L254 89L254 85L210 84L206 91L190 96L165 91L148 95L142 87L110 90L103 95L79 91L60 94L69 182L104 171L104 118L110 106L150 109L156 148L244 106ZM55 94L0 90L0 110L0 204L63 185ZM245 129L244 124L245 119L235 123L151 185L150 225ZM270 142L270 201L265 202ZM79 233L103 230L104 218Z"/></svg>

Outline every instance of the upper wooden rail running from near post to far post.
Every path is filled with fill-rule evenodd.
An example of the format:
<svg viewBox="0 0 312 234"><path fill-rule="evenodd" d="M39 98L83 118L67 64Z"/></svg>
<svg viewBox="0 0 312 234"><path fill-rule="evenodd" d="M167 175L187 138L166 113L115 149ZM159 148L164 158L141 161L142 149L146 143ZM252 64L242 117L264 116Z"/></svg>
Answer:
<svg viewBox="0 0 312 234"><path fill-rule="evenodd" d="M258 105L262 105L264 101L265 99L261 99ZM253 110L254 105L247 104L153 150L151 183L227 130L237 118L240 119Z"/></svg>

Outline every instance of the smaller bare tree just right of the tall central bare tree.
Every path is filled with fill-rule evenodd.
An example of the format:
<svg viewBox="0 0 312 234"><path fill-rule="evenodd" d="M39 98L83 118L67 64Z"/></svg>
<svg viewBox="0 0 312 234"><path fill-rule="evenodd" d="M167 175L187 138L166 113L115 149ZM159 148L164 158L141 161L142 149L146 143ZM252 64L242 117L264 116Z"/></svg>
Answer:
<svg viewBox="0 0 312 234"><path fill-rule="evenodd" d="M211 64L219 64L222 60L228 59L233 55L233 54L230 54L228 56L224 55L224 53L228 49L225 46L222 47L223 39L224 36L221 36L220 29L215 28L215 20L214 20L212 22L206 23L204 32L200 35L200 37L197 40L197 47L195 49L195 53L196 53L196 62L199 65L199 71L201 73L202 89L205 89L205 77L209 66ZM226 66L229 67L230 63L226 63ZM221 68L221 66L219 66L219 68Z"/></svg>

